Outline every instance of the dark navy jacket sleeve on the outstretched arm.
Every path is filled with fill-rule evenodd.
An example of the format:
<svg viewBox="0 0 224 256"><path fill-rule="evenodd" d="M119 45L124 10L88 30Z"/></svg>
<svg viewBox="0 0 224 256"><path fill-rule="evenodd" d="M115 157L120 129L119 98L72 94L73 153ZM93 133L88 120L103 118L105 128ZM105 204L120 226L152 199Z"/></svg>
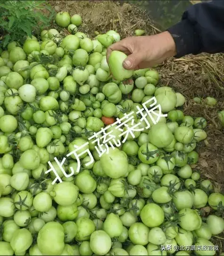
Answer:
<svg viewBox="0 0 224 256"><path fill-rule="evenodd" d="M174 38L177 58L224 51L224 0L192 5L182 20L167 31Z"/></svg>

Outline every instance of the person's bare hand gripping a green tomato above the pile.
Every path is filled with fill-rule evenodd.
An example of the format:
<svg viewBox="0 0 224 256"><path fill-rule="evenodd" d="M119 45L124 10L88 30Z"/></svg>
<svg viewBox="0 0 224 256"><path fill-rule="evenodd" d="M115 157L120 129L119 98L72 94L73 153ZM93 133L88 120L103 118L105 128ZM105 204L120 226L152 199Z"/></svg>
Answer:
<svg viewBox="0 0 224 256"><path fill-rule="evenodd" d="M156 35L132 36L112 44L107 50L122 51L128 57L123 62L125 69L150 68L176 55L176 46L171 34L166 31Z"/></svg>

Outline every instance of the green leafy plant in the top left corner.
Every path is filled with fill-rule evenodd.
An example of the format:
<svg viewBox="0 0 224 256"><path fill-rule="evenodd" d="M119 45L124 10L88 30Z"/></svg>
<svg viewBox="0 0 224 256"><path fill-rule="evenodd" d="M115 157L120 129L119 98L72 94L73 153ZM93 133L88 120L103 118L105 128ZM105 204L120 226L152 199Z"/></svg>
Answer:
<svg viewBox="0 0 224 256"><path fill-rule="evenodd" d="M47 10L48 14L44 14ZM42 26L49 26L55 11L46 1L0 0L0 31L2 46L11 41L23 43L25 37L38 34Z"/></svg>

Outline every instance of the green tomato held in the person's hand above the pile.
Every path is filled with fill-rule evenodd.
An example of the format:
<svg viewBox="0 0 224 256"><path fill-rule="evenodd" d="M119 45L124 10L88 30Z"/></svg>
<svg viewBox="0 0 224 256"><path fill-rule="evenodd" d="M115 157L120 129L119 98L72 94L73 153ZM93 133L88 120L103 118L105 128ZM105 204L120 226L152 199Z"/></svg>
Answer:
<svg viewBox="0 0 224 256"><path fill-rule="evenodd" d="M112 51L109 56L108 65L116 80L123 81L133 75L134 70L127 70L123 67L123 61L126 58L127 55L121 51Z"/></svg>

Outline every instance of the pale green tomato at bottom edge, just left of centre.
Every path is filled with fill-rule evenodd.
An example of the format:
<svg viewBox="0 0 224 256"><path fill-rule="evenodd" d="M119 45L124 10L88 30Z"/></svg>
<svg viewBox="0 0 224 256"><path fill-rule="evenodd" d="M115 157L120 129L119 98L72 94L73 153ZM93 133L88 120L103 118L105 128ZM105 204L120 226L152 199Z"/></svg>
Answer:
<svg viewBox="0 0 224 256"><path fill-rule="evenodd" d="M96 255L107 255L111 245L110 237L103 230L96 230L90 236L90 247Z"/></svg>

